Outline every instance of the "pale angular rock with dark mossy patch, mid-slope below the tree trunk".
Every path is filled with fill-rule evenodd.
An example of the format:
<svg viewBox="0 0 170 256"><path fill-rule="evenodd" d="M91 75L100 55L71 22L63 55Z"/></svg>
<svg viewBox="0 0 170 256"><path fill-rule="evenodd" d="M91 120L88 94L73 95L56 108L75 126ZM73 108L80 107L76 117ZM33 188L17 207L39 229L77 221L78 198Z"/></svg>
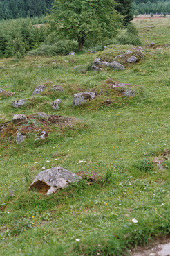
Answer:
<svg viewBox="0 0 170 256"><path fill-rule="evenodd" d="M91 101L92 99L95 99L95 96L95 92L79 92L77 94L74 94L73 107L75 105L80 105L86 101Z"/></svg>

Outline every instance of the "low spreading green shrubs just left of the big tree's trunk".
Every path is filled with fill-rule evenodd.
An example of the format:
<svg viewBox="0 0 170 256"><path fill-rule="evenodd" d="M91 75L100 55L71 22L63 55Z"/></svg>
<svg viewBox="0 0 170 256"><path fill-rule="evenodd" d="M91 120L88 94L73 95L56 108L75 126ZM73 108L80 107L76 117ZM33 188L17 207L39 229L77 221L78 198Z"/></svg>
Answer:
<svg viewBox="0 0 170 256"><path fill-rule="evenodd" d="M29 56L55 56L67 55L70 51L77 51L77 42L75 40L62 40L53 45L42 44L37 50L28 53Z"/></svg>

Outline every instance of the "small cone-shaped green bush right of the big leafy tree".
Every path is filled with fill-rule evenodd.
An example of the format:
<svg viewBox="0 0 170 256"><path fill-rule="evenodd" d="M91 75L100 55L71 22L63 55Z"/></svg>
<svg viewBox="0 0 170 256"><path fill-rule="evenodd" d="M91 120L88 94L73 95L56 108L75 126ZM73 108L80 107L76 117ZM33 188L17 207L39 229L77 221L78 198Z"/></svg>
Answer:
<svg viewBox="0 0 170 256"><path fill-rule="evenodd" d="M120 37L117 37L120 44L132 44L141 45L140 37L138 37L138 30L135 28L134 24L130 23L127 29Z"/></svg>

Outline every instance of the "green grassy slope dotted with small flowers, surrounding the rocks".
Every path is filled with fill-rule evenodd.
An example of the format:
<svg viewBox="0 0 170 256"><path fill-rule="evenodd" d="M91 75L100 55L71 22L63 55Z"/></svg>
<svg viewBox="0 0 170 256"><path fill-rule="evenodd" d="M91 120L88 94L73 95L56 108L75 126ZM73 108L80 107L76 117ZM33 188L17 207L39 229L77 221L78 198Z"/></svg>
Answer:
<svg viewBox="0 0 170 256"><path fill-rule="evenodd" d="M158 44L168 43L168 23L168 19L136 22L143 42L148 37ZM144 31L152 24L152 31ZM155 38L157 31L161 36ZM18 146L15 137L1 138L2 255L122 255L153 235L169 234L169 169L153 167L141 172L138 162L153 160L169 148L169 48L146 49L145 58L126 71L105 68L100 73L82 74L73 69L92 63L99 55L116 56L127 49L131 46L113 46L95 55L26 58L19 63L2 60L0 87L8 86L15 96L1 99L0 123L11 120L15 113L39 111L77 119L73 129L52 130L45 142L35 143L30 136ZM46 63L52 60L55 64ZM46 67L38 69L38 65ZM102 81L107 78L131 83L135 98L123 99L106 89ZM40 94L33 104L12 108L12 101L30 98L33 89L48 80L62 85L64 93ZM94 87L105 87L105 94L72 108L75 92ZM62 99L59 111L51 109L48 102L53 99ZM113 103L104 105L106 99ZM79 160L86 163L79 164ZM25 171L31 182L42 167L52 166L75 173L95 171L103 177L111 172L112 178L103 185L81 183L48 198L28 192ZM132 223L133 218L138 223Z"/></svg>

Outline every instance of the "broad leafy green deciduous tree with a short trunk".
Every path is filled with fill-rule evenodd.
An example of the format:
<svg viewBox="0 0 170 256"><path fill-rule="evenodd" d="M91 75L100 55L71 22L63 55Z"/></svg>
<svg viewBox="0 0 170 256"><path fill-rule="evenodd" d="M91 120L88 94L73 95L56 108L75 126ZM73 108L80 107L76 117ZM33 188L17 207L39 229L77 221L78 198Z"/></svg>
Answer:
<svg viewBox="0 0 170 256"><path fill-rule="evenodd" d="M77 40L79 51L88 38L113 38L122 26L114 0L55 0L49 20L60 37Z"/></svg>

